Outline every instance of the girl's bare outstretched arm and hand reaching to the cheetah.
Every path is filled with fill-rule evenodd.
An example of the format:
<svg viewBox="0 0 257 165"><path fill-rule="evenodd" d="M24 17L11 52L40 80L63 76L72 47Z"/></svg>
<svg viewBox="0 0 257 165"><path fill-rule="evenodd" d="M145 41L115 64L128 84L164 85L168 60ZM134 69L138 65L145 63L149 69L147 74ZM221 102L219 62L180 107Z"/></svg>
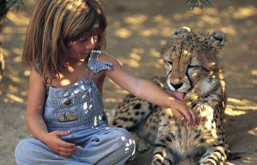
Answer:
<svg viewBox="0 0 257 165"><path fill-rule="evenodd" d="M187 119L192 125L199 124L199 116L187 105L178 101L175 97L162 90L149 80L137 78L121 67L119 62L112 56L103 54L100 60L112 62L112 70L105 71L105 75L110 77L117 85L124 90L128 90L136 97L155 105L171 108L172 113L181 121Z"/></svg>

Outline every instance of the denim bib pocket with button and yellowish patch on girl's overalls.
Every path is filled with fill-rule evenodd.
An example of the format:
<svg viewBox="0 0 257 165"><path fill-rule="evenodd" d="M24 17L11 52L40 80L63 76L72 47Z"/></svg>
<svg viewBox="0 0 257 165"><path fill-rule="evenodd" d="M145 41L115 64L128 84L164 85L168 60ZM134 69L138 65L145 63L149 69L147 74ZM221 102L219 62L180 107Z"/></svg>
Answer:
<svg viewBox="0 0 257 165"><path fill-rule="evenodd" d="M46 100L44 120L48 127L70 127L86 123L94 117L92 90L84 90L66 98Z"/></svg>

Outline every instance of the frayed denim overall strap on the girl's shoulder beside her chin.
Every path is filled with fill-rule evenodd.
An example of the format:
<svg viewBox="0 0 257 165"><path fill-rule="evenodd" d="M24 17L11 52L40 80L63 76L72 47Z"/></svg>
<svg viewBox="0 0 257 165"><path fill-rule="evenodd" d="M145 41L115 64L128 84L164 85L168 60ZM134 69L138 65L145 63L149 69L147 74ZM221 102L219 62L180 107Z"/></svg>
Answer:
<svg viewBox="0 0 257 165"><path fill-rule="evenodd" d="M112 63L108 61L98 62L100 50L92 50L90 53L90 57L87 63L87 67L94 74L98 74L101 70L107 69L112 70Z"/></svg>

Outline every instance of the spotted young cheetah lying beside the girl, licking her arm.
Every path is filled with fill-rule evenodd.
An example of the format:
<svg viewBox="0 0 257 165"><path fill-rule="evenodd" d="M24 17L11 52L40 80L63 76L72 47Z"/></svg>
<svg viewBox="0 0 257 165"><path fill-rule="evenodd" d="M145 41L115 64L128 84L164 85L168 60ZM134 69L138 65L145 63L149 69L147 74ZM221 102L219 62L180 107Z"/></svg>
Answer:
<svg viewBox="0 0 257 165"><path fill-rule="evenodd" d="M188 27L179 28L161 51L166 77L152 78L169 93L177 90L183 103L198 113L199 125L180 121L170 108L132 94L115 108L115 117L109 124L126 128L135 139L141 139L138 151L140 143L153 146L152 165L175 165L186 159L200 165L225 164L230 151L223 123L226 96L219 53L225 45L221 31L208 35L196 34Z"/></svg>

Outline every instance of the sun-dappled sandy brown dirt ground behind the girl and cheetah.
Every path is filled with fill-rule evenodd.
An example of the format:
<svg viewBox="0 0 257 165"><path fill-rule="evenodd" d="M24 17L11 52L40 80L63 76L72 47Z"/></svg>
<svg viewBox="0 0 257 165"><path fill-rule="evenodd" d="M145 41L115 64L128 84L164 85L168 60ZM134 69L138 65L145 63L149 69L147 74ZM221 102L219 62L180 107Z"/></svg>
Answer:
<svg viewBox="0 0 257 165"><path fill-rule="evenodd" d="M18 14L7 15L0 41L6 70L0 83L0 164L15 165L19 140L30 135L25 122L27 68L21 47L34 0L24 0ZM225 129L232 152L241 159L227 165L257 164L257 0L213 0L213 8L188 10L186 0L104 0L108 15L107 52L132 74L164 75L159 52L165 40L183 26L195 32L222 30L229 44L222 50L228 105ZM106 111L127 94L110 79L104 85ZM151 152L136 154L131 165L148 165Z"/></svg>

